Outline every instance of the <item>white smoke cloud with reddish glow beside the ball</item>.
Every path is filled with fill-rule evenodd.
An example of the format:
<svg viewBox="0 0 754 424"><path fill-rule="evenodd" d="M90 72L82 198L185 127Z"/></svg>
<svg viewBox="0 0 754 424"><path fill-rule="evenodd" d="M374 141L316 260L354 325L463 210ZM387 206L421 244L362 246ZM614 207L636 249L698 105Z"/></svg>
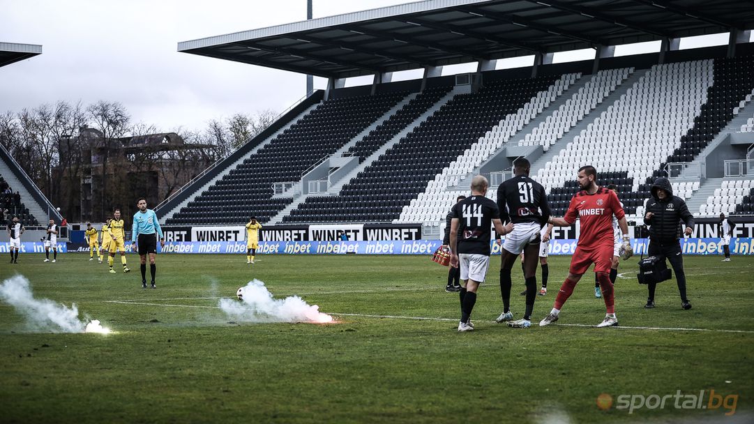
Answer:
<svg viewBox="0 0 754 424"><path fill-rule="evenodd" d="M276 300L259 280L241 287L243 300L224 298L219 307L228 318L238 322L333 322L333 317L320 312L317 305L309 305L299 296Z"/></svg>

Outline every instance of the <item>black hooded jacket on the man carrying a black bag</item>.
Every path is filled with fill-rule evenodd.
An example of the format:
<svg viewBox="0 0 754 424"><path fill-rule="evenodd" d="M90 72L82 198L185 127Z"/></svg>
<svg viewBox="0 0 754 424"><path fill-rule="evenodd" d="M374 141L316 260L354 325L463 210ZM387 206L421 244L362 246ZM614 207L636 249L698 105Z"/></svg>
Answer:
<svg viewBox="0 0 754 424"><path fill-rule="evenodd" d="M657 197L657 189L663 189L668 196L663 200ZM644 223L649 226L649 238L661 244L675 243L681 236L679 221L683 221L687 227L694 228L694 216L688 211L686 202L673 195L673 186L665 177L654 180L651 189L652 198L647 201L644 212ZM646 219L646 214L654 214L651 219Z"/></svg>

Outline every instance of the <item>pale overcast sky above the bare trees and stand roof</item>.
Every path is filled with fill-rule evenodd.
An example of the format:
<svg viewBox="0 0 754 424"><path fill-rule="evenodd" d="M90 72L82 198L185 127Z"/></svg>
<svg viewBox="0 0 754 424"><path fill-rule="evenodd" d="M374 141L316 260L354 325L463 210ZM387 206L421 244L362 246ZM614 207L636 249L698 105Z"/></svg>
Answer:
<svg viewBox="0 0 754 424"><path fill-rule="evenodd" d="M314 0L314 17L405 2ZM177 44L305 20L306 0L0 0L0 10L0 41L42 46L0 68L0 112L118 101L134 123L176 131L235 112L281 112L305 94L304 75L179 53ZM324 84L315 78L314 88Z"/></svg>

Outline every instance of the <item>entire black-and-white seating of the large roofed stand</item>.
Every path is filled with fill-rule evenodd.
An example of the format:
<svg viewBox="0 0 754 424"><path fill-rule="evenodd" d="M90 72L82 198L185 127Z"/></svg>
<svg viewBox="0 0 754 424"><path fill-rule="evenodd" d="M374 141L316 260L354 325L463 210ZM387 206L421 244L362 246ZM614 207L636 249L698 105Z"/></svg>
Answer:
<svg viewBox="0 0 754 424"><path fill-rule="evenodd" d="M545 151L559 148L550 161L533 170L548 189L555 214L565 211L578 190L573 176L588 163L599 170L600 183L618 186L627 213L640 216L649 184L665 165L699 156L737 108L750 100L754 84L745 70L751 65L752 57L738 57L651 66L573 137L566 135L593 115L633 68L491 81L476 92L453 95L387 151L364 163L355 177L335 184L342 186L337 194L308 195L299 203L292 203L295 193L274 195L273 183L298 183L311 165L338 149L363 163L400 131L411 128L452 86L410 96L408 91L343 95L320 103L167 223L242 223L249 214L266 223L279 213L284 224L439 223L455 196L465 192L454 189L454 183L511 143ZM354 139L400 101L403 106ZM556 107L547 109L551 104ZM559 146L562 140L572 141ZM673 189L689 199L700 189L700 181L673 180ZM743 213L745 195L743 186L720 187L699 212ZM494 190L489 197L495 198Z"/></svg>

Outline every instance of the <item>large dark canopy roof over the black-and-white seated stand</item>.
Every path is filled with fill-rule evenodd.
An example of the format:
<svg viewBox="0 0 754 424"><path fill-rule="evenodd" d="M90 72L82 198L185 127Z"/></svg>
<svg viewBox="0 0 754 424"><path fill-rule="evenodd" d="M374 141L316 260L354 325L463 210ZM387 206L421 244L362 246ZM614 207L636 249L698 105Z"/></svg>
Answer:
<svg viewBox="0 0 754 424"><path fill-rule="evenodd" d="M347 78L752 28L752 0L428 0L182 41L178 51Z"/></svg>

